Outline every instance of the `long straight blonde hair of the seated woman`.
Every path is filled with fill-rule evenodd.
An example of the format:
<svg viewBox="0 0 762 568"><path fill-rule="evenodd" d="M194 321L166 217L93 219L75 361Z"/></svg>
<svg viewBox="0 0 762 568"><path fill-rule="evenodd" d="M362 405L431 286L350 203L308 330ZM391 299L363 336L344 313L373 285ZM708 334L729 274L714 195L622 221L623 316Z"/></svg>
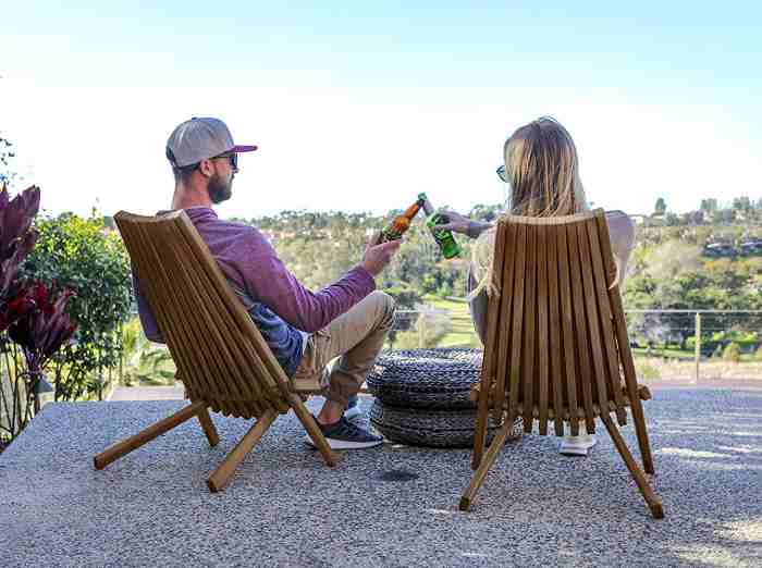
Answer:
<svg viewBox="0 0 762 568"><path fill-rule="evenodd" d="M589 211L579 177L577 148L558 121L543 116L521 126L503 146L505 182L509 185L505 212L523 217L561 217ZM469 298L492 283L492 256L496 225L481 234L472 262L478 285ZM618 262L617 262L618 269ZM618 270L617 277L618 280Z"/></svg>

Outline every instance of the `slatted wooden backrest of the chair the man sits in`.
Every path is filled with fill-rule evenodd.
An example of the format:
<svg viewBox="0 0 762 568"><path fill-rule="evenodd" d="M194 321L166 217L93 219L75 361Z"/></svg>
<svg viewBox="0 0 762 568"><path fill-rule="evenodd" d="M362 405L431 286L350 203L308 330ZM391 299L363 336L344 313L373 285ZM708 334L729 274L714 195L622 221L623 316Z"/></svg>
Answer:
<svg viewBox="0 0 762 568"><path fill-rule="evenodd" d="M285 412L287 378L184 211L114 217L192 400L217 412Z"/></svg>

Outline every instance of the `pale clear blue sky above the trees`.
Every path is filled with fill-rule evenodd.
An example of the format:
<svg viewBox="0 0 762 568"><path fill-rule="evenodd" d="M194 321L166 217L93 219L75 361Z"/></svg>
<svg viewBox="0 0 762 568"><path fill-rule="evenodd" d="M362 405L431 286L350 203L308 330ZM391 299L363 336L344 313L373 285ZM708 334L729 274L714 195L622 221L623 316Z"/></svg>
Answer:
<svg viewBox="0 0 762 568"><path fill-rule="evenodd" d="M52 212L167 208L192 115L260 146L225 215L499 202L543 114L597 205L762 197L759 2L506 3L7 2L0 133Z"/></svg>

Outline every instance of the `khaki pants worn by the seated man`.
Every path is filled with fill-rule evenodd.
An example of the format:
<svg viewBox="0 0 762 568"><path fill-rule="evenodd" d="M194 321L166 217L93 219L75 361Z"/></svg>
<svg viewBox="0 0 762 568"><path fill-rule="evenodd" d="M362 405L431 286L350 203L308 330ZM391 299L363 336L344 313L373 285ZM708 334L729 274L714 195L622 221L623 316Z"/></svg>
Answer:
<svg viewBox="0 0 762 568"><path fill-rule="evenodd" d="M393 323L394 299L372 292L307 338L294 379L319 378L325 398L346 408L373 367Z"/></svg>

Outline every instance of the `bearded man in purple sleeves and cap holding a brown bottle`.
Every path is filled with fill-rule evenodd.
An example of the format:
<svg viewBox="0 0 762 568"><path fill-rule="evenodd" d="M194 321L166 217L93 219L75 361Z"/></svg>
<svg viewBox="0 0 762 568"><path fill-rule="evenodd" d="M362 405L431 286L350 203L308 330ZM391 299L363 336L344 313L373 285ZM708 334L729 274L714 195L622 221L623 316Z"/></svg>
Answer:
<svg viewBox="0 0 762 568"><path fill-rule="evenodd" d="M373 279L400 242L371 243L360 262L336 282L316 293L306 289L257 229L223 221L211 208L230 199L238 155L256 149L233 144L228 126L218 119L194 118L179 125L167 141L175 180L172 209L185 210L285 374L320 378L325 403L316 418L331 447L377 446L381 436L343 415L392 326L394 301L374 291ZM146 336L161 341L138 282L135 288ZM311 444L309 436L307 441Z"/></svg>

